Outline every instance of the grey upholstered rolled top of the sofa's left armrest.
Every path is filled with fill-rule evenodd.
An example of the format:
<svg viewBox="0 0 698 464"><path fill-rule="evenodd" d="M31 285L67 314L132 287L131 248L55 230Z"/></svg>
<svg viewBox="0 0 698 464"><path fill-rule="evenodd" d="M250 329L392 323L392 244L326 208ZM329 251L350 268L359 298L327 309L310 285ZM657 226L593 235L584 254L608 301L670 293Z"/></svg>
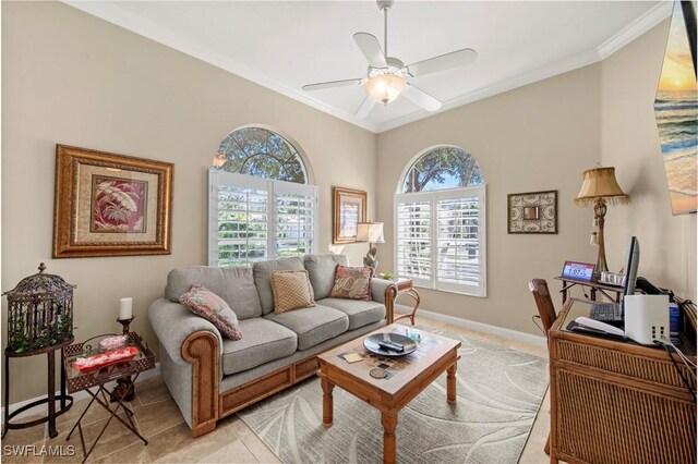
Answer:
<svg viewBox="0 0 698 464"><path fill-rule="evenodd" d="M218 329L180 303L173 303L166 298L156 300L148 309L148 319L160 346L174 362L186 363L182 358L182 345L191 334L201 331L212 332L216 335L218 353L222 353L222 338Z"/></svg>

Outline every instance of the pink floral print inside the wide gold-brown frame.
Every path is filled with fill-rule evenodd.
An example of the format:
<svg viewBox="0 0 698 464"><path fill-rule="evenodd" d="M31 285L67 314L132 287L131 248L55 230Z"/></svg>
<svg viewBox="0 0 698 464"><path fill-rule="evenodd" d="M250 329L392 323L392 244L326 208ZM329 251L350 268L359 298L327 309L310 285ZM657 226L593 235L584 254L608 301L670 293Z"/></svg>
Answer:
<svg viewBox="0 0 698 464"><path fill-rule="evenodd" d="M93 175L91 232L145 232L147 182Z"/></svg>

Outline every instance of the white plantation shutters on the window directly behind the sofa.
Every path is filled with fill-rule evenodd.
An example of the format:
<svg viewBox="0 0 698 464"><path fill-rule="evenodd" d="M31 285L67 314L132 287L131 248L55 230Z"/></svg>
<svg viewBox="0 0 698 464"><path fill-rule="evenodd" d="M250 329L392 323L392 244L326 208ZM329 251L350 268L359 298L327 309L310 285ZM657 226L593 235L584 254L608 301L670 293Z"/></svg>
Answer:
<svg viewBox="0 0 698 464"><path fill-rule="evenodd" d="M317 187L212 169L209 188L209 266L315 253Z"/></svg>

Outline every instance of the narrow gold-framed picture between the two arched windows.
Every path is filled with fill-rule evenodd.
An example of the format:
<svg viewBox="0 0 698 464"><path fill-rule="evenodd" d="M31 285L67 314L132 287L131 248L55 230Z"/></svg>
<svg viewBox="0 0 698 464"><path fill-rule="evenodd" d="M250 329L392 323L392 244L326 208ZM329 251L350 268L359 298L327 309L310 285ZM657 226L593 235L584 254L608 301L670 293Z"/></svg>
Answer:
<svg viewBox="0 0 698 464"><path fill-rule="evenodd" d="M366 196L363 191L333 187L332 243L357 242L357 224L366 221Z"/></svg>

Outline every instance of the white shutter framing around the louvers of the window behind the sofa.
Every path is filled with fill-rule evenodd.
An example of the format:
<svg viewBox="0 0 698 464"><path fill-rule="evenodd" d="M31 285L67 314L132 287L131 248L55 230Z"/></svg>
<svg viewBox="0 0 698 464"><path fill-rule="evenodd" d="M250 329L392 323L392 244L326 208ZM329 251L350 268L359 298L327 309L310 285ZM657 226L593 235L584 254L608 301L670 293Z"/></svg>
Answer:
<svg viewBox="0 0 698 464"><path fill-rule="evenodd" d="M277 181L274 179L256 178L253 175L239 174L210 168L208 170L208 266L220 267L219 265L219 241L218 241L218 187L228 185L242 188L254 188L265 191L267 195L267 237L266 257L264 260L276 259L278 257L277 247L277 194L294 194L311 197L312 202L312 243L305 254L316 254L318 249L318 188L315 185L299 184L296 182ZM300 255L302 256L302 255ZM254 261L246 261L250 266ZM232 265L234 266L234 265ZM244 265L243 265L244 266Z"/></svg>

